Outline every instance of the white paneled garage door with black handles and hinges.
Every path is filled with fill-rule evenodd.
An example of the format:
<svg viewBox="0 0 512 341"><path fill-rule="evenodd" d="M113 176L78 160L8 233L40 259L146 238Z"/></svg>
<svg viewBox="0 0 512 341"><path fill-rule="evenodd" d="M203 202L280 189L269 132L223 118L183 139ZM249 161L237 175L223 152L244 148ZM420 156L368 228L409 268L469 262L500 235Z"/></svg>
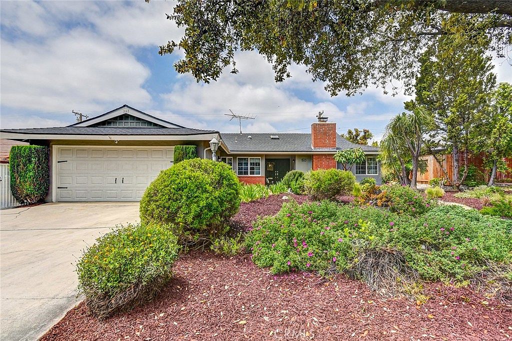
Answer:
<svg viewBox="0 0 512 341"><path fill-rule="evenodd" d="M138 201L173 147L57 147L57 201Z"/></svg>

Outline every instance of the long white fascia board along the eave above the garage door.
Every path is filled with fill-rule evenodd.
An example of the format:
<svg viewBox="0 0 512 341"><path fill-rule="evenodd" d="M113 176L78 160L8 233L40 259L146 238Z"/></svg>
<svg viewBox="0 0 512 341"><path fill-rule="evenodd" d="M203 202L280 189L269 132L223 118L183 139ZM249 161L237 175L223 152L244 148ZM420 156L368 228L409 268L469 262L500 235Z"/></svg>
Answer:
<svg viewBox="0 0 512 341"><path fill-rule="evenodd" d="M3 139L11 140L119 140L119 141L210 141L216 133L200 135L62 135L62 134L20 134L4 133Z"/></svg>

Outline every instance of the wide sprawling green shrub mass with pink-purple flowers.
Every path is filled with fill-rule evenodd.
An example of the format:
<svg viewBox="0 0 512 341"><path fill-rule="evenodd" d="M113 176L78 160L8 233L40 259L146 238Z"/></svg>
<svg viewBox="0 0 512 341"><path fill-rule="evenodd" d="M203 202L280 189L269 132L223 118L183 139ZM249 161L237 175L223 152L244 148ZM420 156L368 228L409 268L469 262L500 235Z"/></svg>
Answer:
<svg viewBox="0 0 512 341"><path fill-rule="evenodd" d="M276 216L255 222L246 246L253 262L271 267L272 273L353 273L357 266L362 279L373 281L372 271L382 276L379 271L386 271L360 269L361 257L373 254L386 257L389 269L407 268L400 274L409 279L417 274L422 280L463 281L486 264L512 262L511 227L512 222L452 205L412 217L369 206L292 201ZM388 277L388 282L395 280Z"/></svg>

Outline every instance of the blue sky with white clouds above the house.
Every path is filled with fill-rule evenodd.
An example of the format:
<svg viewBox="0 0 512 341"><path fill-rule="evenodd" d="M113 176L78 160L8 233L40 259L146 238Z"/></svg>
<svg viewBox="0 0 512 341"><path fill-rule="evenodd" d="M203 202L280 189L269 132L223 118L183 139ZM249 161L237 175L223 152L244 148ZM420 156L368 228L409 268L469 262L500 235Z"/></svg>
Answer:
<svg viewBox="0 0 512 341"><path fill-rule="evenodd" d="M179 75L180 55L159 56L158 46L179 40L182 29L166 19L172 2L5 2L1 12L1 116L3 128L62 126L72 110L89 117L122 104L198 129L237 132L229 110L253 114L244 132L308 132L318 111L338 133L370 129L377 139L403 93L337 97L314 83L302 66L276 84L271 66L255 52L237 56L239 74L197 83ZM512 81L507 61L496 60L499 81Z"/></svg>

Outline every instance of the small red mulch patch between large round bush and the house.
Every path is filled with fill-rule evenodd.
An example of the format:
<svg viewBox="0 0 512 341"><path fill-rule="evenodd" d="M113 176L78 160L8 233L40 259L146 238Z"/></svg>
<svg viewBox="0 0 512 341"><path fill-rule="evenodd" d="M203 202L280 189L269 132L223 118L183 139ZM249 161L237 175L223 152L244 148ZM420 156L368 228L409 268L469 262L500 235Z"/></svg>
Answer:
<svg viewBox="0 0 512 341"><path fill-rule="evenodd" d="M295 194L285 193L251 202L243 202L240 204L240 210L238 213L231 218L231 226L241 229L242 231L247 231L252 227L252 222L254 222L259 216L273 216L279 212L281 206L283 206L285 202L289 201L288 199L283 200L282 198L284 196L294 199L300 204L310 201L308 196L297 196Z"/></svg>

